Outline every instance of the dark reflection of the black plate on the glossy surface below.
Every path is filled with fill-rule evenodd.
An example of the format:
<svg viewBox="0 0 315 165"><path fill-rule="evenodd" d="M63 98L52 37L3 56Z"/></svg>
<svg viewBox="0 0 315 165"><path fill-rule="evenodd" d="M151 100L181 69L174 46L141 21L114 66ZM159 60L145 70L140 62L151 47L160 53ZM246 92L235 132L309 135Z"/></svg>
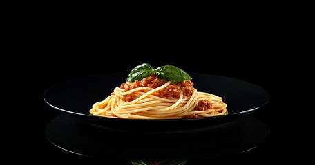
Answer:
<svg viewBox="0 0 315 165"><path fill-rule="evenodd" d="M95 126L57 115L46 138L64 151L102 159L209 159L250 151L269 138L269 127L248 115L226 124L198 129L128 131Z"/></svg>

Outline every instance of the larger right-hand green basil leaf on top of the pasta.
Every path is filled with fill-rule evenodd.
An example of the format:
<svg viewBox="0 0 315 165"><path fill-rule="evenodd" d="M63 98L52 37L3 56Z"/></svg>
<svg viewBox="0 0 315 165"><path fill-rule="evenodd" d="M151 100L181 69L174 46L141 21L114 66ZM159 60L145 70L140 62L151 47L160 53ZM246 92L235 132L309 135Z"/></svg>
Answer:
<svg viewBox="0 0 315 165"><path fill-rule="evenodd" d="M155 69L155 74L159 78L162 78L164 80L169 80L173 82L179 82L182 80L191 80L191 76L187 74L187 72L184 72L184 70L175 67L173 65L165 65L162 67L158 67Z"/></svg>

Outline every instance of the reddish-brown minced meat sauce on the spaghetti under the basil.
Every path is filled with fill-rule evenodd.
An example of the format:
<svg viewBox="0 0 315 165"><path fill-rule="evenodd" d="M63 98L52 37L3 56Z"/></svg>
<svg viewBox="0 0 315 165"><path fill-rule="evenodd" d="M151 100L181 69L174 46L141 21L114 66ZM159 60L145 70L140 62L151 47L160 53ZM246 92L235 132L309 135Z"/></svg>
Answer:
<svg viewBox="0 0 315 165"><path fill-rule="evenodd" d="M162 80L161 78L158 78L155 76L155 74L151 74L151 76L143 78L142 80L135 80L133 83L122 83L120 85L121 89L124 89L124 91L129 91L131 89L135 89L137 87L151 87L151 88L157 88L162 85L164 85L167 82L167 80ZM189 97L193 94L193 82L191 80L183 80L180 82L175 82L175 85L171 84L164 89L161 89L160 91L157 91L154 93L155 96L159 96L161 98L180 98L180 90L182 90L183 97ZM131 102L132 100L135 100L133 96L127 95L126 96L126 102ZM195 107L195 110L197 111L205 111L206 109L211 108L211 103L207 100L200 100ZM193 118L193 116L191 116Z"/></svg>

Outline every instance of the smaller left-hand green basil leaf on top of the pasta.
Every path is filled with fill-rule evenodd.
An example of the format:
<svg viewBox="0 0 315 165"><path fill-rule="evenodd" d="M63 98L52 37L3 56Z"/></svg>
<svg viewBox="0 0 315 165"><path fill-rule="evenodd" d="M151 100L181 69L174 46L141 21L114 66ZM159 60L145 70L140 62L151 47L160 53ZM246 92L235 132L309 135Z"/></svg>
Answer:
<svg viewBox="0 0 315 165"><path fill-rule="evenodd" d="M131 70L126 81L134 82L135 80L142 80L142 78L150 76L153 72L155 72L155 69L153 69L151 65L143 63L142 65L137 65L137 67Z"/></svg>

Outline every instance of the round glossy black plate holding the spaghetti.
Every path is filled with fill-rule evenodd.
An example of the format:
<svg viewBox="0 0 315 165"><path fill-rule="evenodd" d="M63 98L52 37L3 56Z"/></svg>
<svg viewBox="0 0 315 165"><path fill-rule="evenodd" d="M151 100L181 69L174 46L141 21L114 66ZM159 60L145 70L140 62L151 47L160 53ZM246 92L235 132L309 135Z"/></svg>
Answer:
<svg viewBox="0 0 315 165"><path fill-rule="evenodd" d="M75 118L99 126L113 126L126 129L187 129L189 127L211 126L231 122L262 108L270 100L269 93L262 87L236 78L211 74L189 73L194 87L223 98L227 103L228 115L192 119L135 120L106 118L89 115L95 102L104 100L115 87L126 81L128 72L93 74L66 80L44 93L44 100L50 107Z"/></svg>

